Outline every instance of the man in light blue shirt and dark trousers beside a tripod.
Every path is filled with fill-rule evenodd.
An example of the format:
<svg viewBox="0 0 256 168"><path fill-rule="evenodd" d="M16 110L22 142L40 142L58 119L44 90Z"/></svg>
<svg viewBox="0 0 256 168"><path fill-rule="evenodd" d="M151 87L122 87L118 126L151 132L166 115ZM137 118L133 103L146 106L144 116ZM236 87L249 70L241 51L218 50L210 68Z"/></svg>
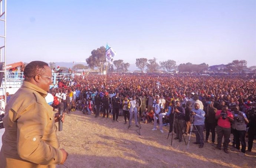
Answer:
<svg viewBox="0 0 256 168"><path fill-rule="evenodd" d="M194 108L192 110L192 115L193 120L194 120L194 125L197 128L197 131L195 131L196 133L196 142L193 142L194 144L200 144L199 148L203 148L204 146L204 134L203 134L203 130L204 130L204 116L205 116L205 112L200 109L200 105L198 103L194 104Z"/></svg>

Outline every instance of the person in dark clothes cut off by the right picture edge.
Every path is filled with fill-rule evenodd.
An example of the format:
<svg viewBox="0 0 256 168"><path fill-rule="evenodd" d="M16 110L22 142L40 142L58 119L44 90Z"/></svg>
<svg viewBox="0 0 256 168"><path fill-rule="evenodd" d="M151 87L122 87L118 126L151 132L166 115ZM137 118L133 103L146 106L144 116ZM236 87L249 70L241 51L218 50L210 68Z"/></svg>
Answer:
<svg viewBox="0 0 256 168"><path fill-rule="evenodd" d="M247 127L249 127L247 152L252 152L253 139L256 135L256 104L252 106L252 109L247 111L247 116L249 119L249 123L247 125Z"/></svg>

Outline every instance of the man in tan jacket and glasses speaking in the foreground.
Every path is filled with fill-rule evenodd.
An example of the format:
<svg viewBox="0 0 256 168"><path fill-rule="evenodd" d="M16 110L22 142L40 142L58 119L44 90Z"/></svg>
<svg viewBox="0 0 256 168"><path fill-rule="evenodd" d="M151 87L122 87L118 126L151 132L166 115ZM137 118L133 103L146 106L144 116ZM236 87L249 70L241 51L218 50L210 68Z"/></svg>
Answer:
<svg viewBox="0 0 256 168"><path fill-rule="evenodd" d="M0 168L55 168L68 153L59 149L55 125L59 115L45 101L52 71L47 63L33 61L24 76L24 84L6 106Z"/></svg>

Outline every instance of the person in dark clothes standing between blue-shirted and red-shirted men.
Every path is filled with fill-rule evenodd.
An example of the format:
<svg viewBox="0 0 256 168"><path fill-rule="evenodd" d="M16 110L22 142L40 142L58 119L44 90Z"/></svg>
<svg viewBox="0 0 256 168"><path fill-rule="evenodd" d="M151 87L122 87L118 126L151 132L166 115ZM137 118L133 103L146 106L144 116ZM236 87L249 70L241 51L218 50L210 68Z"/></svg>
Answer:
<svg viewBox="0 0 256 168"><path fill-rule="evenodd" d="M206 101L207 107L204 107L204 112L206 112L205 121L204 121L204 126L206 129L205 142L209 142L208 138L211 130L212 144L214 144L214 141L215 141L215 127L216 127L215 114L217 112L217 109L213 107L213 101L214 101L213 99L211 99L210 101Z"/></svg>

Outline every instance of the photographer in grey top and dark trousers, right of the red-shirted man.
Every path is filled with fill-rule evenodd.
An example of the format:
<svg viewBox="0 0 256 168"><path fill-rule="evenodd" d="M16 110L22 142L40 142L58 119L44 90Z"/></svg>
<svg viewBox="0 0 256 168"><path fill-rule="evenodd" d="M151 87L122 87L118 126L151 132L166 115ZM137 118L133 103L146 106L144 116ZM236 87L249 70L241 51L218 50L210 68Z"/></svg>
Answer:
<svg viewBox="0 0 256 168"><path fill-rule="evenodd" d="M236 149L240 150L240 142L242 145L241 152L239 156L244 156L246 142L245 142L245 135L246 135L246 124L249 123L248 119L246 118L245 113L239 111L238 105L233 105L232 107L232 114L234 116L234 122L232 123L233 135L234 140L236 142Z"/></svg>

